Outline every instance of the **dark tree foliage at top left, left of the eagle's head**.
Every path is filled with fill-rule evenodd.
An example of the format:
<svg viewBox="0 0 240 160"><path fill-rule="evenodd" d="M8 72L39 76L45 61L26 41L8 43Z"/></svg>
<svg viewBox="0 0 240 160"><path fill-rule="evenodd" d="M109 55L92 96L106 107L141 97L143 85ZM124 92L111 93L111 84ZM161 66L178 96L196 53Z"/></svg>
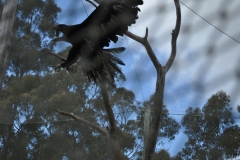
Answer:
<svg viewBox="0 0 240 160"><path fill-rule="evenodd" d="M8 70L15 76L47 71L50 64L42 48L53 49L49 38L60 12L53 0L20 0L10 44ZM45 54L45 56L42 56ZM23 63L24 62L24 63Z"/></svg>

